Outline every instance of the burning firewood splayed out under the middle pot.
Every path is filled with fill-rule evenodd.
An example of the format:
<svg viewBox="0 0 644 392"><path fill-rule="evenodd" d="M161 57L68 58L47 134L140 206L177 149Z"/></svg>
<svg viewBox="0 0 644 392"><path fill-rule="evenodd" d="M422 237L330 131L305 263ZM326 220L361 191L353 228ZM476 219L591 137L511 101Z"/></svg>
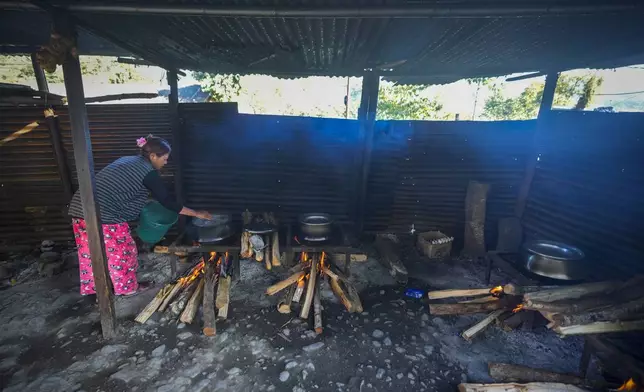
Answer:
<svg viewBox="0 0 644 392"><path fill-rule="evenodd" d="M313 326L316 333L322 333L320 285L325 276L331 290L347 311L362 312L357 290L349 278L328 260L325 252L311 255L302 252L299 259L300 262L289 270L288 278L266 289L266 294L275 295L288 288L277 304L280 313L291 313L296 304L300 304L300 318L308 320L313 306Z"/></svg>

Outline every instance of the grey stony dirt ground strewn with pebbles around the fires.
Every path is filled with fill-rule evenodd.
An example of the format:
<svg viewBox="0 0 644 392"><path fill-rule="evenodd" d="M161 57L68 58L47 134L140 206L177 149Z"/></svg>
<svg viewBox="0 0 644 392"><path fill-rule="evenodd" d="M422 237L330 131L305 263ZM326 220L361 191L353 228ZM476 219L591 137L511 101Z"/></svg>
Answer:
<svg viewBox="0 0 644 392"><path fill-rule="evenodd" d="M480 262L430 262L413 249L401 256L412 279L399 286L375 253L354 263L364 312L349 314L324 285L324 333L275 310L266 286L282 276L242 261L231 289L229 319L204 337L199 323L155 315L133 321L155 289L116 301L120 336L100 336L94 299L78 294L78 270L0 292L0 389L6 391L453 391L489 382L491 361L576 372L582 341L545 328L489 328L474 342L462 330L484 315L434 317L426 299L406 288L485 287ZM163 282L168 256L140 256L140 279ZM495 274L498 283L508 277ZM197 317L200 320L200 317Z"/></svg>

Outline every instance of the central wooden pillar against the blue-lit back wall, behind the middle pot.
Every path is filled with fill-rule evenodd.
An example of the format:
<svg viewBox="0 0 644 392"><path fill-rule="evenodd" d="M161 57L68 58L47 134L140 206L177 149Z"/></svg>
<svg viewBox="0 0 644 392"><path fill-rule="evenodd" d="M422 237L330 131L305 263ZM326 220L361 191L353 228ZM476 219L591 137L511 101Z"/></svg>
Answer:
<svg viewBox="0 0 644 392"><path fill-rule="evenodd" d="M362 96L358 109L360 122L360 136L362 138L362 151L358 166L358 190L356 197L356 221L358 232L364 229L365 204L367 199L367 185L369 182L369 169L371 166L371 151L373 149L374 128L376 125L376 111L378 108L378 89L380 76L373 71L367 72L362 77Z"/></svg>

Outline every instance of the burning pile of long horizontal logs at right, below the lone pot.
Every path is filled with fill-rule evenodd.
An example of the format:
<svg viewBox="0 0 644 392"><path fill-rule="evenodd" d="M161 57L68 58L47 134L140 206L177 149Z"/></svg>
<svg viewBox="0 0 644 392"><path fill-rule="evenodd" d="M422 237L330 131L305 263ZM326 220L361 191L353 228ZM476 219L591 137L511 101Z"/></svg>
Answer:
<svg viewBox="0 0 644 392"><path fill-rule="evenodd" d="M491 312L463 332L470 340L497 322L506 330L522 324L531 327L535 315L548 321L560 335L583 335L644 330L644 276L626 282L597 282L571 286L513 284L482 289L440 290L430 300L474 297L459 303L430 303L434 315Z"/></svg>

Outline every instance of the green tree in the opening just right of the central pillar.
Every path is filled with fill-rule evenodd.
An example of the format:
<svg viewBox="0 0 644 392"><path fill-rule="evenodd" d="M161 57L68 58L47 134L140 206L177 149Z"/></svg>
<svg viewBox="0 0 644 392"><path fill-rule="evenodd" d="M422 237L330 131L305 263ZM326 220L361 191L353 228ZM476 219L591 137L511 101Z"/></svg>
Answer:
<svg viewBox="0 0 644 392"><path fill-rule="evenodd" d="M443 104L426 96L427 86L381 83L378 91L378 120L443 120Z"/></svg>

